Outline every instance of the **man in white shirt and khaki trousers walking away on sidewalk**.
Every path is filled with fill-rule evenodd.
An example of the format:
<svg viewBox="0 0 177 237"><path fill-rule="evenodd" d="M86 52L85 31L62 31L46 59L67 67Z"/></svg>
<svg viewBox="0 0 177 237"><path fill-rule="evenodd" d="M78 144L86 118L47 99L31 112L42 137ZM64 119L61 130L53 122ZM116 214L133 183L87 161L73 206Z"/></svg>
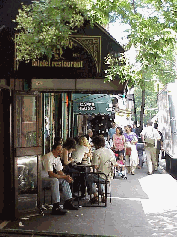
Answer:
<svg viewBox="0 0 177 237"><path fill-rule="evenodd" d="M148 174L151 175L153 171L157 171L156 160L156 142L160 139L160 134L157 129L152 126L152 122L147 123L147 127L143 128L141 132L142 141L145 144L145 152L147 156Z"/></svg>

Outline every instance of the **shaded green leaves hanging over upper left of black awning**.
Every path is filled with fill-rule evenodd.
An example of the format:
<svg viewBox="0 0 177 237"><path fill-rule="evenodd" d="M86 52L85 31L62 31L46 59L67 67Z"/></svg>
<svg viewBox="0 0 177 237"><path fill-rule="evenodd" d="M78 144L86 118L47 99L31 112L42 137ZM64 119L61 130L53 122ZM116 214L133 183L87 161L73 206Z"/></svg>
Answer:
<svg viewBox="0 0 177 237"><path fill-rule="evenodd" d="M29 6L22 4L16 17L19 31L17 59L35 59L44 54L51 57L54 47L57 44L65 46L69 35L83 24L82 10L86 6L76 0L40 0Z"/></svg>

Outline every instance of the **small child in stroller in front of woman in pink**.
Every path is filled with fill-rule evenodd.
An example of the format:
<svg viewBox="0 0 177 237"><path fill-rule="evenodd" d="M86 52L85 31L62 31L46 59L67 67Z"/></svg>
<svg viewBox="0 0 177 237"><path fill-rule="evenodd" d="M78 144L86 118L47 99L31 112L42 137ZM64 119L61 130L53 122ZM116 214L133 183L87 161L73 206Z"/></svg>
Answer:
<svg viewBox="0 0 177 237"><path fill-rule="evenodd" d="M118 166L115 167L115 174L114 174L114 177L115 177L115 178L116 178L116 177L121 177L121 178L123 178L123 179L127 179L123 153L120 153L120 154L119 154L119 157L118 157L118 159L117 159L117 163L118 163Z"/></svg>

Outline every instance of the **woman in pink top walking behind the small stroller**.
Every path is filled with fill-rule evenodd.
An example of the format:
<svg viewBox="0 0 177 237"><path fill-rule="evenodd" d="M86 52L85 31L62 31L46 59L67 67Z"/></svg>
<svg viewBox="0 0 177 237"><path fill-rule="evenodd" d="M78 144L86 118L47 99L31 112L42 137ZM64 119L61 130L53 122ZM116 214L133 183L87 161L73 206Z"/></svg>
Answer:
<svg viewBox="0 0 177 237"><path fill-rule="evenodd" d="M118 157L121 155L124 157L125 137L121 127L117 127L116 133L113 134L113 150L116 155L116 160L118 160Z"/></svg>

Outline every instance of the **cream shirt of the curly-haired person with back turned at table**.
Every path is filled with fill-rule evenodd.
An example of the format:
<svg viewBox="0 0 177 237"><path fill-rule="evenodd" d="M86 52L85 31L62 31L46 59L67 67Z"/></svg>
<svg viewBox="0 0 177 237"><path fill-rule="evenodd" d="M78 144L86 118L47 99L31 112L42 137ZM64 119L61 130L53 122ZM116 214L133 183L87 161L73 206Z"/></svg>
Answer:
<svg viewBox="0 0 177 237"><path fill-rule="evenodd" d="M116 164L115 154L111 149L101 147L93 152L92 165L97 165L99 172L110 174L111 163ZM102 177L105 178L105 176Z"/></svg>

